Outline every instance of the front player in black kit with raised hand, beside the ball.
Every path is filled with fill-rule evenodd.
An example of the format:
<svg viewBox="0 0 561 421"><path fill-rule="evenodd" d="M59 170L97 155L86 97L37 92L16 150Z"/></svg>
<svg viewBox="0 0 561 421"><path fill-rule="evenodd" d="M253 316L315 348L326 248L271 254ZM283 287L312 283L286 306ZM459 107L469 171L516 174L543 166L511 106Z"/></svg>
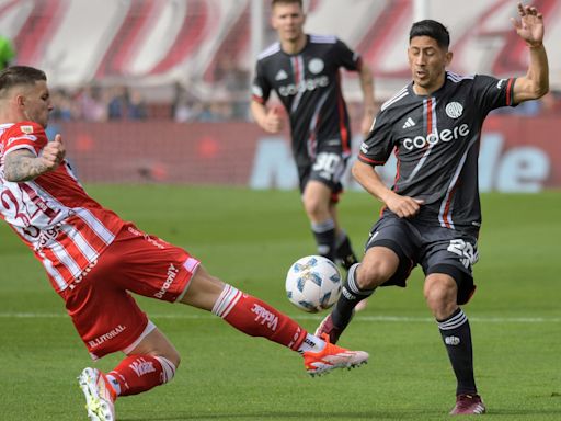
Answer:
<svg viewBox="0 0 561 421"><path fill-rule="evenodd" d="M476 289L481 127L491 110L538 99L549 89L542 15L522 4L518 14L512 21L527 45L529 65L524 77L510 79L446 71L453 58L446 27L432 20L412 25L408 58L413 81L381 106L352 169L385 207L362 263L351 268L343 294L316 332L336 342L358 301L378 286L405 286L420 264L425 300L457 378L451 414L485 412L473 376L470 326L459 307ZM392 151L398 175L390 190L374 167L382 166Z"/></svg>

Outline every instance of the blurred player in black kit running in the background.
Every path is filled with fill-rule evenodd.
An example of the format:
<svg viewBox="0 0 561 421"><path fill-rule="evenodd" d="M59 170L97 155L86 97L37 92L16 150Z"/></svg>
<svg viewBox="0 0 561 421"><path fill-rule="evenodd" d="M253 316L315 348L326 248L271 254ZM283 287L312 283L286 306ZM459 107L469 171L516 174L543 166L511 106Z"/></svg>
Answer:
<svg viewBox="0 0 561 421"><path fill-rule="evenodd" d="M336 37L306 34L305 21L301 0L273 0L272 25L279 41L257 58L251 112L263 129L280 132L280 115L274 107L266 107L271 92L276 91L289 115L301 198L318 253L341 261L348 270L357 259L339 226L335 207L351 156L351 127L340 68L359 72L364 135L369 132L376 110L373 78L360 56Z"/></svg>

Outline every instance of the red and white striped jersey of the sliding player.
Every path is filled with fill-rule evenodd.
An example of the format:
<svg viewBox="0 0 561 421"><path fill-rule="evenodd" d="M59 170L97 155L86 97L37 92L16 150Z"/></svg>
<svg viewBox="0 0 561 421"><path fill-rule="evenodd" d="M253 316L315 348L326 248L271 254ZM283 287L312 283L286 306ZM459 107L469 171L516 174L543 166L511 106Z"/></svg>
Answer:
<svg viewBox="0 0 561 421"><path fill-rule="evenodd" d="M57 292L80 281L124 225L92 200L64 161L26 182L4 179L4 159L19 149L38 156L48 139L33 122L0 125L0 216L43 263Z"/></svg>

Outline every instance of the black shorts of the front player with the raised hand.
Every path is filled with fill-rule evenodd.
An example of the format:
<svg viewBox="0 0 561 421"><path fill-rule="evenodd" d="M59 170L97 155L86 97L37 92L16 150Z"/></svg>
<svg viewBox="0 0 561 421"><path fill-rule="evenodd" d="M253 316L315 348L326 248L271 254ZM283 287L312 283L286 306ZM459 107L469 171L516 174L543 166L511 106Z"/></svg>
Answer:
<svg viewBox="0 0 561 421"><path fill-rule="evenodd" d="M458 304L466 304L476 291L472 265L479 259L477 235L477 231L428 226L386 212L370 230L365 251L378 246L398 254L399 268L382 286L405 286L413 268L421 264L425 276L450 275L458 285Z"/></svg>

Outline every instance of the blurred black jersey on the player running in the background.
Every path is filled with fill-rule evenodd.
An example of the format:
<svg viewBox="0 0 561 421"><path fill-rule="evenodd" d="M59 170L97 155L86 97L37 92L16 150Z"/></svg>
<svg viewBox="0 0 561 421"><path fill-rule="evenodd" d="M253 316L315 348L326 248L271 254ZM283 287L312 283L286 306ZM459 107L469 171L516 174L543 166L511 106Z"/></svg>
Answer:
<svg viewBox="0 0 561 421"><path fill-rule="evenodd" d="M310 164L323 147L351 153L348 113L340 68L359 70L360 57L335 36L307 35L295 55L275 43L257 57L253 99L264 104L276 91L289 117L293 153L298 166Z"/></svg>

